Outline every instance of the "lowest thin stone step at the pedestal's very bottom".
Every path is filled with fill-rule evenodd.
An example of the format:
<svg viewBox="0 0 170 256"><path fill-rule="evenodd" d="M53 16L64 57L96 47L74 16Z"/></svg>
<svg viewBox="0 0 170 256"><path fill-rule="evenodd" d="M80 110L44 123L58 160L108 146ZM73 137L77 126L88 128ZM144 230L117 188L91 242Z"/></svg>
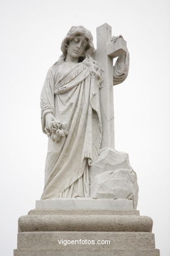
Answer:
<svg viewBox="0 0 170 256"><path fill-rule="evenodd" d="M17 249L14 256L160 256L158 249Z"/></svg>

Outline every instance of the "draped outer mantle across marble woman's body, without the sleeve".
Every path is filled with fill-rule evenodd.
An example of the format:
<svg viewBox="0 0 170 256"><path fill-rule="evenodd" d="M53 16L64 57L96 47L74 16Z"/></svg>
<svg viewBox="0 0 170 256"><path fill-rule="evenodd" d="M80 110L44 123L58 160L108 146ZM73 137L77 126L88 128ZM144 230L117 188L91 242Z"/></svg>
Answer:
<svg viewBox="0 0 170 256"><path fill-rule="evenodd" d="M58 143L49 139L46 163L50 170L42 199L59 198L82 177L87 161L91 165L99 154L102 134L99 77L95 63L80 62L54 83L54 116L67 123L69 134Z"/></svg>

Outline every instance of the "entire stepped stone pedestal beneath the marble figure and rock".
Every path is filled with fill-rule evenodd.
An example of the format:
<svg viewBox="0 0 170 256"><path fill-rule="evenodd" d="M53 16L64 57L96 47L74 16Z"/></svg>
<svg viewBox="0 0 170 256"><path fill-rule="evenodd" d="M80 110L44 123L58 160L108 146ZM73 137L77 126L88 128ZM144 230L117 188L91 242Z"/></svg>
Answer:
<svg viewBox="0 0 170 256"><path fill-rule="evenodd" d="M140 216L137 210L114 209L114 202L121 200L89 200L39 200L36 209L18 221L14 256L160 256L150 217ZM79 203L76 209L75 202ZM95 209L92 202L100 207Z"/></svg>

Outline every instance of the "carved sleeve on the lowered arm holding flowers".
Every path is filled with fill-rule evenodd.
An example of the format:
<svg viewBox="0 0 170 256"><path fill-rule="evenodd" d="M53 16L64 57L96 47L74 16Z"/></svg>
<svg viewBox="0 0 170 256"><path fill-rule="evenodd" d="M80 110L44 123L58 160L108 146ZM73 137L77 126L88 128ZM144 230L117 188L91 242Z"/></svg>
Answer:
<svg viewBox="0 0 170 256"><path fill-rule="evenodd" d="M52 68L48 70L46 79L44 81L44 86L41 91L41 121L42 121L42 131L45 127L45 116L47 113L52 113L54 115L54 75ZM44 131L45 133L45 131Z"/></svg>

